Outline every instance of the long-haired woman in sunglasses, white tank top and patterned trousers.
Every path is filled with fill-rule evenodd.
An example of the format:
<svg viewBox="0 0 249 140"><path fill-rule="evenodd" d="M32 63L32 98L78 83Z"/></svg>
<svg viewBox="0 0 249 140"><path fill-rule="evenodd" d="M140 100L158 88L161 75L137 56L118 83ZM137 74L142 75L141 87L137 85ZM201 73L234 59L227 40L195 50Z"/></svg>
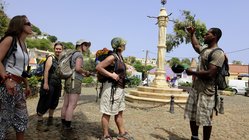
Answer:
<svg viewBox="0 0 249 140"><path fill-rule="evenodd" d="M24 139L28 112L26 96L30 94L27 81L29 56L25 44L32 34L32 24L25 15L10 20L0 43L0 139L5 139L8 127L14 127L16 139ZM10 52L10 53L9 53ZM24 84L23 84L24 83ZM25 87L23 87L23 85ZM24 90L23 90L24 88Z"/></svg>

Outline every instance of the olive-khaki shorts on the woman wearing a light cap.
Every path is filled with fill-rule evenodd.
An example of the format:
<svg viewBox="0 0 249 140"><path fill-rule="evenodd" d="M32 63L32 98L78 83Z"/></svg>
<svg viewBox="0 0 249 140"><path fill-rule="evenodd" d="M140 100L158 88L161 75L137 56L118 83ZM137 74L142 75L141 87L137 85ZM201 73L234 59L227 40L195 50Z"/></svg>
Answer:
<svg viewBox="0 0 249 140"><path fill-rule="evenodd" d="M82 81L79 79L74 79L72 82L71 78L65 81L65 93L66 94L80 94L81 93Z"/></svg>

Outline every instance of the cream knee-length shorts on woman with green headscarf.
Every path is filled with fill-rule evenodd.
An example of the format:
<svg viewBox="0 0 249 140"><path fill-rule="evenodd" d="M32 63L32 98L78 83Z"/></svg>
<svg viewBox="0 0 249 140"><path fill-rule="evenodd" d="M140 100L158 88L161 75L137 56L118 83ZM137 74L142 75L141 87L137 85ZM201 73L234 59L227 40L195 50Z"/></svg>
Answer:
<svg viewBox="0 0 249 140"><path fill-rule="evenodd" d="M111 89L112 83L105 82L100 100L100 112L107 115L117 115L118 112L125 110L125 93L124 89L116 88L112 103Z"/></svg>

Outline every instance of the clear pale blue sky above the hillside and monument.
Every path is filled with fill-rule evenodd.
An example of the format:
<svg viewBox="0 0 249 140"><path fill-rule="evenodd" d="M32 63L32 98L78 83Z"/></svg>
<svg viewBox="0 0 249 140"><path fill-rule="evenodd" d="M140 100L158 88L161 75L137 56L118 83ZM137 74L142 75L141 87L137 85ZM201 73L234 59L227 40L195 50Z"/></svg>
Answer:
<svg viewBox="0 0 249 140"><path fill-rule="evenodd" d="M124 56L156 58L158 16L160 0L5 0L5 12L12 18L27 15L41 31L55 35L59 41L75 42L84 38L92 42L92 51L110 47L110 40L120 36L128 43ZM219 46L227 53L229 61L249 63L249 1L248 0L168 0L167 13L171 19L181 17L189 10L207 26L219 27L223 36ZM167 33L173 24L168 23ZM197 58L190 44L182 44L166 54L171 57Z"/></svg>

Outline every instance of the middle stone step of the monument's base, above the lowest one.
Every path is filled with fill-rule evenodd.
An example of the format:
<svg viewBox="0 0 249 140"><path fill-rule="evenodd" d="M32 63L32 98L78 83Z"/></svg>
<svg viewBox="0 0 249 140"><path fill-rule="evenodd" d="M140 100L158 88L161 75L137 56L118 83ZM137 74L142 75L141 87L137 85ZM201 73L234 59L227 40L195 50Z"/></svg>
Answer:
<svg viewBox="0 0 249 140"><path fill-rule="evenodd" d="M186 92L182 92L181 94L175 94L174 92L170 91L168 91L167 93L155 93L155 92L130 90L129 95L143 97L143 98L162 99L162 100L170 100L172 95L174 95L175 100L186 100L188 97L188 94Z"/></svg>

